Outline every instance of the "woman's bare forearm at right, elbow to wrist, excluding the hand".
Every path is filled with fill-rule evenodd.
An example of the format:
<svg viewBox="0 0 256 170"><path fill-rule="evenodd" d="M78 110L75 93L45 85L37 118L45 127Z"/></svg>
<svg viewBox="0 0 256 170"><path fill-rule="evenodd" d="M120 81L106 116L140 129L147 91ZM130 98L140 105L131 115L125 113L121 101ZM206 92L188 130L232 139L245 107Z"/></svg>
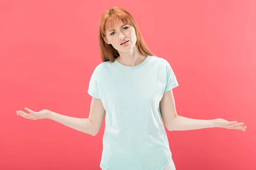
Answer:
<svg viewBox="0 0 256 170"><path fill-rule="evenodd" d="M168 130L196 130L215 127L214 120L190 119L183 116L176 116L168 127Z"/></svg>

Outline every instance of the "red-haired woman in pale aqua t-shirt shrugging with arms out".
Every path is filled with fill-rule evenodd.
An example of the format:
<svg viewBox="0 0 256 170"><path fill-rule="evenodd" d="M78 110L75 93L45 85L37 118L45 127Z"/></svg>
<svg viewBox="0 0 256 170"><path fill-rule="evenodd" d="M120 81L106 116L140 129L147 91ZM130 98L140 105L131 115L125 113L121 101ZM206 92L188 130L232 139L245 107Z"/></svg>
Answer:
<svg viewBox="0 0 256 170"><path fill-rule="evenodd" d="M28 108L29 114L17 114L52 119L93 136L106 116L102 170L175 170L164 125L168 130L223 127L245 131L243 123L177 115L172 93L178 86L175 74L166 59L148 50L137 23L125 9L113 7L102 14L99 46L103 62L90 78L88 119Z"/></svg>

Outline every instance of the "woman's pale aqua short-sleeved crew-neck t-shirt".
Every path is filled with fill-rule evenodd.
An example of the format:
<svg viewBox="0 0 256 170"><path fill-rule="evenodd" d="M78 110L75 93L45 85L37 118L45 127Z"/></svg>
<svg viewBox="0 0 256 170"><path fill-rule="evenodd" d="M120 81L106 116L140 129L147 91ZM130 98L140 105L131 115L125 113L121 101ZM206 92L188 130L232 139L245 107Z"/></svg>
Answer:
<svg viewBox="0 0 256 170"><path fill-rule="evenodd" d="M172 153L159 102L178 86L166 59L148 56L129 67L102 62L93 71L88 94L105 108L102 170L163 170Z"/></svg>

